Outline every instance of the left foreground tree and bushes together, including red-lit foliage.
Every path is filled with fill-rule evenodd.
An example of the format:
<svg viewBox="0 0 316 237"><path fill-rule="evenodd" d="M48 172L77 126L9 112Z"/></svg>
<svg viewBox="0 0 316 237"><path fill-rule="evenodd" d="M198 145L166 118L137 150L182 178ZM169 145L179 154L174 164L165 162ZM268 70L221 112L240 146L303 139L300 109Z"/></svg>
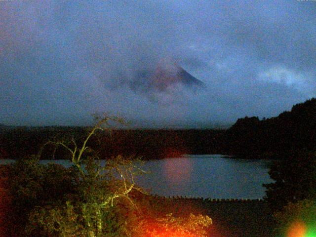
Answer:
<svg viewBox="0 0 316 237"><path fill-rule="evenodd" d="M146 195L134 183L134 176L143 173L137 160L117 156L100 161L98 151L88 142L111 121L122 122L118 118L98 118L81 143L74 138L46 143L69 153L73 163L70 168L40 164L40 154L0 166L1 180L12 197L8 203L13 215L3 224L12 230L8 237L206 236L211 224L207 216L182 218L169 214L157 218L157 213L148 214L154 211L148 211L151 206L144 201Z"/></svg>

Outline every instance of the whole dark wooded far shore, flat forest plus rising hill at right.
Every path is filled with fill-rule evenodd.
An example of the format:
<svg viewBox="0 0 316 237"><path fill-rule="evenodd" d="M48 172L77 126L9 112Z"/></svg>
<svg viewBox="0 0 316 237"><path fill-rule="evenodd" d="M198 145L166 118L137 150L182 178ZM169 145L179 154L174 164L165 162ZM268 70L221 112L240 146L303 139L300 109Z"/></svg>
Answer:
<svg viewBox="0 0 316 237"><path fill-rule="evenodd" d="M88 127L0 126L0 157L21 158L34 154L51 138L82 140ZM117 129L104 132L104 158L124 154L144 159L177 157L182 154L225 154L246 158L284 158L297 150L316 151L316 99L296 104L277 117L237 119L229 129ZM19 149L16 149L18 147ZM62 153L62 152L59 152ZM59 156L62 158L61 154Z"/></svg>

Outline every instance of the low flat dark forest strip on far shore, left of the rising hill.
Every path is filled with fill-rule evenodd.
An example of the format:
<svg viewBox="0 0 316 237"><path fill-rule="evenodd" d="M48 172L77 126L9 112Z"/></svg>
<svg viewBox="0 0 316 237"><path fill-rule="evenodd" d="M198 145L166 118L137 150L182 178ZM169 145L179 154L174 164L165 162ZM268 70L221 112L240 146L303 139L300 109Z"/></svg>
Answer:
<svg viewBox="0 0 316 237"><path fill-rule="evenodd" d="M88 127L14 127L0 132L0 157L18 159L37 153L49 139L76 138L79 142L86 136ZM89 146L98 147L100 157L111 158L119 154L143 159L179 157L183 154L220 153L223 130L168 130L168 129L116 129L111 133L101 131L92 137ZM18 149L17 149L18 148ZM51 156L45 149L41 158ZM55 158L67 158L62 149L55 151Z"/></svg>

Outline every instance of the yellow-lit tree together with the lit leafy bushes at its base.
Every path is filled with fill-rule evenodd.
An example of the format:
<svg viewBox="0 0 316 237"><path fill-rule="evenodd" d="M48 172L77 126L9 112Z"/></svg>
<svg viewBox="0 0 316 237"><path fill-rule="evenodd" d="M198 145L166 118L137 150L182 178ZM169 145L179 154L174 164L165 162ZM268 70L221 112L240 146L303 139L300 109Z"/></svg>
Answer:
<svg viewBox="0 0 316 237"><path fill-rule="evenodd" d="M70 154L70 159L79 173L77 192L66 202L39 206L30 215L29 234L39 227L45 235L70 236L122 236L127 235L128 215L121 214L135 208L129 197L137 188L134 175L142 172L135 160L122 156L111 158L101 164L98 152L87 146L97 130L107 129L109 122L123 121L119 118L98 118L98 123L88 133L82 145L74 139L71 142L49 141L47 145L61 146ZM105 125L106 127L104 128Z"/></svg>

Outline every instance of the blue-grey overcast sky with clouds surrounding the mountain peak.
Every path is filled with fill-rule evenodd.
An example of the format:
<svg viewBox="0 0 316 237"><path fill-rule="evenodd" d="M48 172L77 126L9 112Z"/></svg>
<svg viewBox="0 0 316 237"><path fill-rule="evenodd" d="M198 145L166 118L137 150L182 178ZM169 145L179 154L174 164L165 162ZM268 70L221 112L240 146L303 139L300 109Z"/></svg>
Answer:
<svg viewBox="0 0 316 237"><path fill-rule="evenodd" d="M135 91L175 62L206 89ZM0 123L210 127L316 96L316 1L0 1Z"/></svg>

